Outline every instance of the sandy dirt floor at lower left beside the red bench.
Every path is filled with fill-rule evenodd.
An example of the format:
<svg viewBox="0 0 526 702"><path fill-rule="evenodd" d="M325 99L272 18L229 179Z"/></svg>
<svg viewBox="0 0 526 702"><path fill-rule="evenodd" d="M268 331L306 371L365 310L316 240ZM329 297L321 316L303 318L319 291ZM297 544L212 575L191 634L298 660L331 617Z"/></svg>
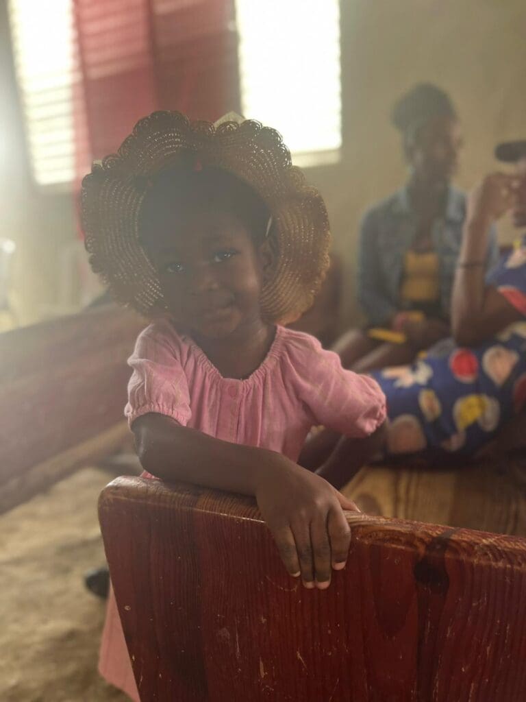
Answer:
<svg viewBox="0 0 526 702"><path fill-rule="evenodd" d="M104 563L97 496L111 477L85 468L0 515L1 702L128 700L97 674L104 602L83 585Z"/></svg>

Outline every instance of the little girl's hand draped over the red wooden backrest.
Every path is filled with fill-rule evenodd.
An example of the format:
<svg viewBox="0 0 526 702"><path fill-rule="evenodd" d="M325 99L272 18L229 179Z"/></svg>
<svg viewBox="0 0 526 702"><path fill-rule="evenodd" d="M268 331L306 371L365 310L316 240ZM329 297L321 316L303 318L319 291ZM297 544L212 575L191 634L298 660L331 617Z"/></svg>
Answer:
<svg viewBox="0 0 526 702"><path fill-rule="evenodd" d="M255 491L257 504L292 577L306 588L324 590L331 568L345 567L351 530L343 510L356 510L325 479L277 456L274 470L264 470Z"/></svg>

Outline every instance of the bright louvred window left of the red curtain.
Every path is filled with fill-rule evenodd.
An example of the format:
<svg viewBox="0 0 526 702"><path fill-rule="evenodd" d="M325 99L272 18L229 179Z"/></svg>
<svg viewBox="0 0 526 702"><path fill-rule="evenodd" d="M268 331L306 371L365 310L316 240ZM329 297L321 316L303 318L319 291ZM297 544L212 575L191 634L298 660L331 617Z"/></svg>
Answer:
<svg viewBox="0 0 526 702"><path fill-rule="evenodd" d="M72 0L9 0L15 69L36 183L74 179Z"/></svg>

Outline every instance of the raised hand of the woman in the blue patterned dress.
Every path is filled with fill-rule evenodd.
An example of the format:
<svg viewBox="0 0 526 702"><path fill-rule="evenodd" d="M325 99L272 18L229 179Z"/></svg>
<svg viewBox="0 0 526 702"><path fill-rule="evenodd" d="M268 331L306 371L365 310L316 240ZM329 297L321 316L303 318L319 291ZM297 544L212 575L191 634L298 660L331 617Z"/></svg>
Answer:
<svg viewBox="0 0 526 702"><path fill-rule="evenodd" d="M513 208L517 201L520 178L506 173L490 173L468 195L468 222L489 225Z"/></svg>

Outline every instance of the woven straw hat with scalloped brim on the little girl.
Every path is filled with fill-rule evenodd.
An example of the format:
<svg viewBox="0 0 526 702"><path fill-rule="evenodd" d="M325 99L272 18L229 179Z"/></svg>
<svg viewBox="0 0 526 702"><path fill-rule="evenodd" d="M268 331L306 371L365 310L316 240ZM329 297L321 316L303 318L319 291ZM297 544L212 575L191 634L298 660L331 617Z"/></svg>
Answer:
<svg viewBox="0 0 526 702"><path fill-rule="evenodd" d="M262 313L282 324L297 319L311 306L329 263L325 204L291 165L276 130L233 114L211 124L190 122L180 112L154 112L137 122L116 154L93 165L82 183L93 270L120 303L147 317L166 314L156 270L139 243L139 215L148 179L175 164L181 152L195 152L204 167L234 173L267 204L276 267L262 291Z"/></svg>

